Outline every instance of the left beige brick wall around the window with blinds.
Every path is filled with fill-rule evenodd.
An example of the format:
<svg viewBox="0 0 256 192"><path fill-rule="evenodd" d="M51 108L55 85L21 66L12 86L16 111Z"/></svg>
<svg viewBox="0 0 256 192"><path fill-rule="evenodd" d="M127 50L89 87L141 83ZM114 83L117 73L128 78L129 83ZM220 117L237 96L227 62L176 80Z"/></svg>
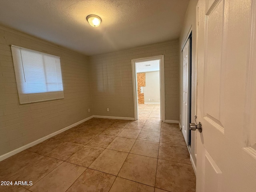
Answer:
<svg viewBox="0 0 256 192"><path fill-rule="evenodd" d="M60 56L64 99L19 104L11 44ZM92 114L87 56L0 27L0 155Z"/></svg>

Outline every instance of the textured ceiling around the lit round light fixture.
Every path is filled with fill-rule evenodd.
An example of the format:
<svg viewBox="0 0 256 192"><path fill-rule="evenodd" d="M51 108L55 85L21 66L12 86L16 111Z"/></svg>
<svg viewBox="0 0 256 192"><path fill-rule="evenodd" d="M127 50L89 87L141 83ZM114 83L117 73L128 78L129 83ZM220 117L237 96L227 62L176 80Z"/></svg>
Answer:
<svg viewBox="0 0 256 192"><path fill-rule="evenodd" d="M188 1L0 0L0 24L95 55L179 38Z"/></svg>

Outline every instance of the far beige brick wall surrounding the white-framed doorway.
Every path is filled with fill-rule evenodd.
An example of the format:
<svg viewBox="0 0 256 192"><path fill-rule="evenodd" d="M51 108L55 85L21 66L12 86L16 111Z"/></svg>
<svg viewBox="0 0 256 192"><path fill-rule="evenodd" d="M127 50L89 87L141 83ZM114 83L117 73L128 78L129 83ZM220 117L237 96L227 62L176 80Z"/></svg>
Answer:
<svg viewBox="0 0 256 192"><path fill-rule="evenodd" d="M94 115L134 117L132 59L164 54L166 120L179 120L179 40L91 56ZM106 108L110 108L107 112Z"/></svg>

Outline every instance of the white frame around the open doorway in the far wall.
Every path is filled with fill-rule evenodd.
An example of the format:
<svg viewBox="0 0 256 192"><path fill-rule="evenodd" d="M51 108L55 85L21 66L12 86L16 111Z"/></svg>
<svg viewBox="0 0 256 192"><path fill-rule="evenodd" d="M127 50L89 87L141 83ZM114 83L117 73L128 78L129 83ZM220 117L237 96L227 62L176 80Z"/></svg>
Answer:
<svg viewBox="0 0 256 192"><path fill-rule="evenodd" d="M138 112L138 88L137 88L137 72L136 62L160 60L160 118L165 122L165 91L164 91L164 55L132 59L132 88L133 88L133 102L134 102L134 120L139 119Z"/></svg>

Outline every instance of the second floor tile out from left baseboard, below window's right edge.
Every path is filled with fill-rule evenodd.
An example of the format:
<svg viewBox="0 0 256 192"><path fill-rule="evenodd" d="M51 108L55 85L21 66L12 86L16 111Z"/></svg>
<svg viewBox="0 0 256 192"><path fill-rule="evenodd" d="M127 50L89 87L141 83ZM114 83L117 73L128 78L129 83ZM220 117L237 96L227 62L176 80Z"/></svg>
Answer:
<svg viewBox="0 0 256 192"><path fill-rule="evenodd" d="M47 156L65 161L67 158L72 156L75 152L82 149L83 147L84 145L82 144L66 142L64 145L62 145L59 148L56 148Z"/></svg>

